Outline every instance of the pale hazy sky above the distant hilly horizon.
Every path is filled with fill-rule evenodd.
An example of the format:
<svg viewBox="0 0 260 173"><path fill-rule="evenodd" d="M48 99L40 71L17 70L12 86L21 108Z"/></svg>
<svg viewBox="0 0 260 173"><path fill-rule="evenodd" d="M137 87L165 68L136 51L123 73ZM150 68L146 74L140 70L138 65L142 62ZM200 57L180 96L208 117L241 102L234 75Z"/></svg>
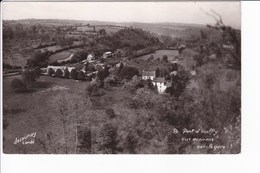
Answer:
<svg viewBox="0 0 260 173"><path fill-rule="evenodd" d="M227 25L241 26L239 2L4 2L9 19L76 19L113 22L177 22L212 24L203 11L213 9Z"/></svg>

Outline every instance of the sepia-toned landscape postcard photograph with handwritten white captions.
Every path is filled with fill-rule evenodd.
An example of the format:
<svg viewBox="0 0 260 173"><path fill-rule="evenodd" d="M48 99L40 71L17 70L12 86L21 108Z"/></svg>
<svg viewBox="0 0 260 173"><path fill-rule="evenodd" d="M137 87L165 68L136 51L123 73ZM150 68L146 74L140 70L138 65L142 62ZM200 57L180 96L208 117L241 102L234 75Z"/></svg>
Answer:
<svg viewBox="0 0 260 173"><path fill-rule="evenodd" d="M4 2L5 154L239 154L241 4Z"/></svg>

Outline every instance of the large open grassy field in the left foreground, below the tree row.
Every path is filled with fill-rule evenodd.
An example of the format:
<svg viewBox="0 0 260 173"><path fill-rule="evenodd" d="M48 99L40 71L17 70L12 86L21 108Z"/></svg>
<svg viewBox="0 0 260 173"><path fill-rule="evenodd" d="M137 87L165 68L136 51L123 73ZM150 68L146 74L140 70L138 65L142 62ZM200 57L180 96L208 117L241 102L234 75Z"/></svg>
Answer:
<svg viewBox="0 0 260 173"><path fill-rule="evenodd" d="M46 143L47 132L54 134L55 143L62 143L61 123L56 98L71 96L78 98L82 95L88 82L74 81L42 76L34 91L28 93L14 93L10 89L12 79L7 77L3 82L3 111L9 125L4 130L5 153L46 153L42 142ZM72 98L72 97L71 97ZM75 100L74 100L75 101ZM15 138L36 132L34 145L14 144ZM71 134L69 138L73 138Z"/></svg>

